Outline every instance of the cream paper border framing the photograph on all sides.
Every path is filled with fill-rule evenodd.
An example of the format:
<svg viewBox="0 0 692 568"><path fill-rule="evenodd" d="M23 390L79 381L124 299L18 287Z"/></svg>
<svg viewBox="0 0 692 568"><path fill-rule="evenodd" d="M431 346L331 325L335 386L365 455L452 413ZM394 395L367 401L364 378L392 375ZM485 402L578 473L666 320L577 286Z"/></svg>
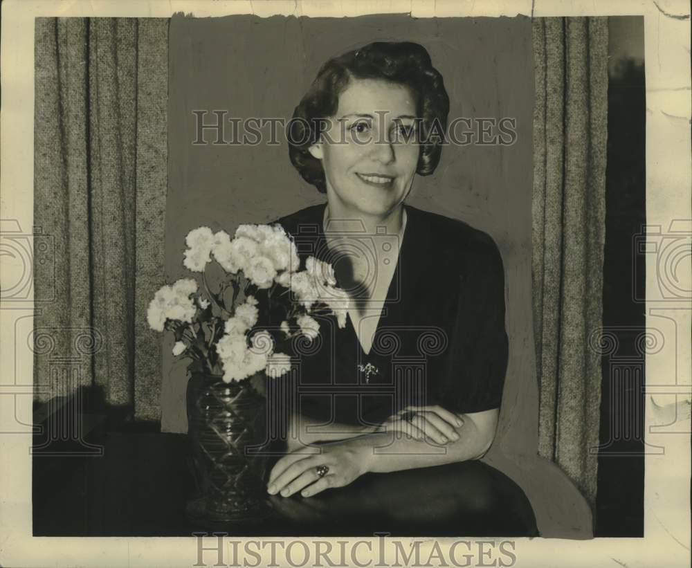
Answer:
<svg viewBox="0 0 692 568"><path fill-rule="evenodd" d="M50 0L8 0L2 3L1 20L1 129L0 219L3 232L32 235L33 227L33 115L34 115L34 19L35 17L171 17L185 12L194 17L253 14L260 17L294 15L355 17L367 14L409 13L414 17L500 17L526 15L610 16L643 15L646 54L646 223L655 230L692 233L692 165L690 163L690 7L685 0L611 0L595 2L560 0L473 1L141 1L93 0L60 3ZM0 235L2 237L3 235ZM632 253L634 251L632 250ZM691 257L683 259L677 275L690 276ZM8 280L26 277L30 266L6 262ZM667 351L646 354L645 445L664 448L660 455L645 452L644 538L594 538L567 540L511 538L514 565L583 567L618 565L632 567L689 566L690 518L690 420L662 423L654 400L665 404L689 398L691 391L691 344L684 330L692 325L689 299L659 299L653 291L664 277L657 264L646 266L646 327L657 327L661 313L675 322L678 331L676 360ZM32 276L33 277L33 276ZM692 282L678 281L684 290ZM52 538L32 537L31 455L33 441L33 353L24 342L15 344L19 322L33 318L33 293L23 302L5 302L0 309L0 565L12 567L48 565L192 566L198 559L199 540L189 538ZM663 312L664 311L664 312ZM23 325L26 327L27 323ZM677 418L677 417L676 417ZM238 539L239 540L239 539ZM258 540L258 538L243 539ZM260 540L269 540L261 538ZM286 543L297 538L281 539ZM337 542L334 538L311 540ZM397 538L404 546L416 539ZM445 551L453 538L425 538L421 558L432 549ZM470 542L498 542L501 538L465 538ZM210 535L204 546L212 550L206 565L214 565L217 538ZM361 562L385 566L392 550L381 550L381 537L360 538L370 542L358 551ZM476 548L475 551L482 550ZM311 548L314 553L315 547ZM368 558L368 551L371 558ZM262 565L271 562L264 550ZM457 553L458 555L459 553ZM302 554L297 554L302 558ZM206 557L205 557L206 558ZM445 556L448 558L448 556ZM383 562L382 564L381 562ZM485 561L488 561L485 558ZM311 562L310 562L311 561ZM314 559L303 565L313 565ZM473 565L484 564L481 554ZM368 565L368 564L364 564ZM471 565L471 564L470 564Z"/></svg>

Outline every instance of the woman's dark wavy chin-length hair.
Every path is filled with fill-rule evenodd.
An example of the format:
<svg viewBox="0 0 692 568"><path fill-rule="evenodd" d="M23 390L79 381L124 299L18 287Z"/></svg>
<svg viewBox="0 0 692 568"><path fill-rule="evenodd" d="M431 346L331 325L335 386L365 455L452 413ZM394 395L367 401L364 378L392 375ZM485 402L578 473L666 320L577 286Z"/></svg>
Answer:
<svg viewBox="0 0 692 568"><path fill-rule="evenodd" d="M426 48L412 42L374 42L329 59L317 74L309 91L295 107L289 132L291 163L307 183L327 191L322 161L310 154L309 147L320 139L318 128L325 118L338 109L339 96L352 78L381 79L407 86L417 99L417 116L421 119L421 140L417 174L435 172L442 151L441 136L449 112L449 97L442 75L432 66ZM433 126L435 125L435 126Z"/></svg>

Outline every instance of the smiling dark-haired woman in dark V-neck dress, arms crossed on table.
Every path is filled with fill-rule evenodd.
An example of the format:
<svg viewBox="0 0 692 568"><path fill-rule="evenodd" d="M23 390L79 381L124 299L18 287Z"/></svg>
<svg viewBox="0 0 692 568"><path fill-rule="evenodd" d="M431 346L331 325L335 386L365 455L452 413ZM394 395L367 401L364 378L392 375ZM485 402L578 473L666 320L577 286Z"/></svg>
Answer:
<svg viewBox="0 0 692 568"><path fill-rule="evenodd" d="M415 174L437 167L448 109L428 53L408 42L331 59L295 109L291 162L327 203L277 222L303 259L334 265L353 301L346 327L320 319L319 345L300 354L291 451L271 495L491 446L508 349L500 253L483 232L405 203Z"/></svg>

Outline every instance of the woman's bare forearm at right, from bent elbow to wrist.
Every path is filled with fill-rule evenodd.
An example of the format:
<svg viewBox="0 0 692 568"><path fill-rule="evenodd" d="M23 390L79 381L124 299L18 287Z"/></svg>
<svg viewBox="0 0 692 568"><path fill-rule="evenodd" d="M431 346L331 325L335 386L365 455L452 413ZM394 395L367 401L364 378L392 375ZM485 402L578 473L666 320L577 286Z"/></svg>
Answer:
<svg viewBox="0 0 692 568"><path fill-rule="evenodd" d="M495 434L496 417L462 415L464 425L455 428L459 439L444 446L417 440L401 432L378 432L353 439L361 448L363 468L374 473L439 466L482 457Z"/></svg>

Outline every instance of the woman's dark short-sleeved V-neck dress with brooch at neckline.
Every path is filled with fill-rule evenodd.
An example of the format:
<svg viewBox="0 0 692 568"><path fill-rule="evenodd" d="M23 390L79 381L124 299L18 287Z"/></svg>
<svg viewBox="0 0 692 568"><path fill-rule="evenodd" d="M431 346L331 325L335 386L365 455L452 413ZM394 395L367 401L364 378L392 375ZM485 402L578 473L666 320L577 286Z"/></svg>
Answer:
<svg viewBox="0 0 692 568"><path fill-rule="evenodd" d="M327 204L282 217L301 268L333 262ZM293 342L291 410L324 422L381 423L408 405L453 412L500 406L507 371L504 268L497 245L463 221L404 204L408 217L381 317L365 354L350 316L316 317L320 336ZM374 239L360 235L356 238ZM339 282L337 282L337 285Z"/></svg>

